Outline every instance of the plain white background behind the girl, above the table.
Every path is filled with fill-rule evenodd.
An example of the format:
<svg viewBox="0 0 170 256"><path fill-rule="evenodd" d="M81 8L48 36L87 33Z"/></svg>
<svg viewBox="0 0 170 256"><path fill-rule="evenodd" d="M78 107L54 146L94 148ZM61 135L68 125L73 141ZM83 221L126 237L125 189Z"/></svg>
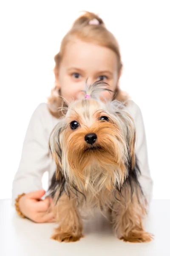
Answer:
<svg viewBox="0 0 170 256"><path fill-rule="evenodd" d="M83 10L99 14L119 41L120 84L143 113L153 197L170 199L169 0L0 1L0 198L11 198L29 119L50 94L54 55Z"/></svg>

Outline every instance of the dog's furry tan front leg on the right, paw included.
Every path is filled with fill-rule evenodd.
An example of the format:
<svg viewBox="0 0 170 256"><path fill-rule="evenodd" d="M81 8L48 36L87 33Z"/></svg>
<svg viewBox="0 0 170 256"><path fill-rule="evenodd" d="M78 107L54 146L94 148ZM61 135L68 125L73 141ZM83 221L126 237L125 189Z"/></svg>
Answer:
<svg viewBox="0 0 170 256"><path fill-rule="evenodd" d="M130 188L124 186L122 196L117 194L116 198L119 200L113 202L111 211L114 233L124 241L134 243L151 241L153 235L145 232L142 224L146 210L140 189L136 188L131 198Z"/></svg>

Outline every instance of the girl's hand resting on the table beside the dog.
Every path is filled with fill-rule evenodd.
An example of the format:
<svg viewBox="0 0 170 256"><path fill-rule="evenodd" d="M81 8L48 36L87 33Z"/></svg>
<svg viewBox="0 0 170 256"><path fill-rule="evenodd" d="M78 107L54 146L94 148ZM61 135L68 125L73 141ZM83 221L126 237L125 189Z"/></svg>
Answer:
<svg viewBox="0 0 170 256"><path fill-rule="evenodd" d="M20 198L20 211L34 222L42 223L55 221L52 198L42 200L41 197L44 194L45 190L37 190Z"/></svg>

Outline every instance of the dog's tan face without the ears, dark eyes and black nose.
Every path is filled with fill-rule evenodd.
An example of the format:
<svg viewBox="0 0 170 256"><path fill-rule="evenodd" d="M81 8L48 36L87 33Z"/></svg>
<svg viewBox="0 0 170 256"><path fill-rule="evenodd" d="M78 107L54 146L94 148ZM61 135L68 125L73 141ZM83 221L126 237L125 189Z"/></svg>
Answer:
<svg viewBox="0 0 170 256"><path fill-rule="evenodd" d="M74 102L65 121L64 148L72 169L82 172L91 162L120 164L125 154L121 128L102 102Z"/></svg>

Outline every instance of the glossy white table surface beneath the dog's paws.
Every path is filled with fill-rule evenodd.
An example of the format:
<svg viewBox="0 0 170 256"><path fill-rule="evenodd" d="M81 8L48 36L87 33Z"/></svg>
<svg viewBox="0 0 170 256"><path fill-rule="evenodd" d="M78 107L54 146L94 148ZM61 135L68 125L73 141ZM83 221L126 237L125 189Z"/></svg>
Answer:
<svg viewBox="0 0 170 256"><path fill-rule="evenodd" d="M170 200L153 200L147 231L150 243L133 244L113 236L104 217L85 222L85 238L74 243L50 239L56 224L37 224L22 219L11 200L0 200L0 256L170 256Z"/></svg>

